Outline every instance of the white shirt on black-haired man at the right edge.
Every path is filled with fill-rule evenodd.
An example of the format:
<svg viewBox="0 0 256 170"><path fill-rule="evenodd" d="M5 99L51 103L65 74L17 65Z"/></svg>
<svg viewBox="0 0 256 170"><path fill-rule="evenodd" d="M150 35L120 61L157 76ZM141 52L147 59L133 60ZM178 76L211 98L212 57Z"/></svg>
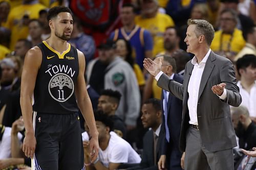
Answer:
<svg viewBox="0 0 256 170"><path fill-rule="evenodd" d="M240 89L240 94L242 96L241 105L245 106L248 109L250 116L256 117L256 81L254 82L254 85L251 87L249 93L243 88L240 81L238 82L237 85Z"/></svg>

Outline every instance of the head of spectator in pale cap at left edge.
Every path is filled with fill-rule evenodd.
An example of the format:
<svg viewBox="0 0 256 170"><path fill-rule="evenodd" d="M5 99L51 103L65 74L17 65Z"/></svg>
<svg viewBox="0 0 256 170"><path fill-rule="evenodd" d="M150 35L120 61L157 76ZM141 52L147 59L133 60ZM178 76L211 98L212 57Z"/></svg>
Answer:
<svg viewBox="0 0 256 170"><path fill-rule="evenodd" d="M2 68L1 86L6 90L10 90L12 85L17 81L15 64L10 58L6 58L0 62Z"/></svg>

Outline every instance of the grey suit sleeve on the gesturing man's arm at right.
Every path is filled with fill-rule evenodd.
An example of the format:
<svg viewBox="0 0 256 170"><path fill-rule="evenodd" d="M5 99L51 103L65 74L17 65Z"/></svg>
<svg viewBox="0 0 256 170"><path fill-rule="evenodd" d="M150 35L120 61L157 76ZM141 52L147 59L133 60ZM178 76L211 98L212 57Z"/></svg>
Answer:
<svg viewBox="0 0 256 170"><path fill-rule="evenodd" d="M221 67L220 79L226 83L227 99L224 101L230 106L238 107L242 103L242 97L237 86L236 74L231 61L226 61Z"/></svg>

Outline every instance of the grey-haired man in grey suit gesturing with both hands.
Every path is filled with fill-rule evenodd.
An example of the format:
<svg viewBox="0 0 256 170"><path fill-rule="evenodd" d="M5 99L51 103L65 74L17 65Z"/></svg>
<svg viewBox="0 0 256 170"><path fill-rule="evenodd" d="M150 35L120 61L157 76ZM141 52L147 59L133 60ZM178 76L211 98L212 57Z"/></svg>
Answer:
<svg viewBox="0 0 256 170"><path fill-rule="evenodd" d="M229 105L242 98L230 60L211 52L214 28L206 20L189 19L185 42L195 57L186 64L184 82L169 80L161 60L144 59L144 67L161 88L183 100L180 150L185 169L232 170L232 148L237 146ZM163 165L160 165L160 169Z"/></svg>

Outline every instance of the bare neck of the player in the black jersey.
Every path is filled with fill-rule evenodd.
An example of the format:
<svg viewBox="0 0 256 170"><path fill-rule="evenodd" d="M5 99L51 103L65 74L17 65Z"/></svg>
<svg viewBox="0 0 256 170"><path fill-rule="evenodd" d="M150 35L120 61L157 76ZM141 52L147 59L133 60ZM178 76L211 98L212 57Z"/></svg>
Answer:
<svg viewBox="0 0 256 170"><path fill-rule="evenodd" d="M60 54L64 51L67 50L68 48L68 43L65 40L62 40L58 37L50 37L48 40L46 40L46 42L57 52L59 52Z"/></svg>

